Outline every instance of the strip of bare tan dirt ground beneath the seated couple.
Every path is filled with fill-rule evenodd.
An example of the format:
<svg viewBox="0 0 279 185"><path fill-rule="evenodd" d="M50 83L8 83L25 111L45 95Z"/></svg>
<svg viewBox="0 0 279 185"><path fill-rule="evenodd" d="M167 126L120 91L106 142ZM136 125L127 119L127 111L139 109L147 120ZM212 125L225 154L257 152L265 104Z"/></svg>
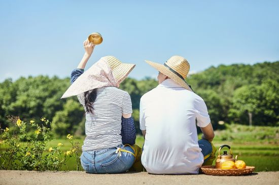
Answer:
<svg viewBox="0 0 279 185"><path fill-rule="evenodd" d="M0 184L279 184L279 171L257 172L245 176L152 175L147 172L88 174L83 171L0 170Z"/></svg>

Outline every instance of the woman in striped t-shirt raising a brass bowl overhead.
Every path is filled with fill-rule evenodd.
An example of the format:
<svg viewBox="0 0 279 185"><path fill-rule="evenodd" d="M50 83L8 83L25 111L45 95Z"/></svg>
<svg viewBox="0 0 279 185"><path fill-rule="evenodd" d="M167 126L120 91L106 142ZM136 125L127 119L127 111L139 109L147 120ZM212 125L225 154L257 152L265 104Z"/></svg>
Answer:
<svg viewBox="0 0 279 185"><path fill-rule="evenodd" d="M85 110L81 165L87 173L125 172L132 167L137 151L130 146L135 144L131 99L118 87L135 65L107 56L84 72L95 45L88 40L83 45L85 54L62 97L77 95Z"/></svg>

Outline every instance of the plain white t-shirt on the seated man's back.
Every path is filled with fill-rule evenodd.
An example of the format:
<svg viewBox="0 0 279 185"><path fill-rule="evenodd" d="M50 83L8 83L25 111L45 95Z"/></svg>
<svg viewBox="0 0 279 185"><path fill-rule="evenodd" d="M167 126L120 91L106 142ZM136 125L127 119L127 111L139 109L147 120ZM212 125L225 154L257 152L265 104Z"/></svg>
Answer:
<svg viewBox="0 0 279 185"><path fill-rule="evenodd" d="M147 92L140 103L146 130L142 163L154 174L197 174L203 163L197 126L211 120L202 98L171 79Z"/></svg>

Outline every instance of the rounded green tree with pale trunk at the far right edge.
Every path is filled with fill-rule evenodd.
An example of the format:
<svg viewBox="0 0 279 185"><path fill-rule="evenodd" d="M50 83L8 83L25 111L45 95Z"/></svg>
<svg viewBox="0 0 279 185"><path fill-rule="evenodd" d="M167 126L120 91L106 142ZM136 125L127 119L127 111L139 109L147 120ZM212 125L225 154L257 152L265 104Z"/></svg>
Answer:
<svg viewBox="0 0 279 185"><path fill-rule="evenodd" d="M271 79L236 89L229 116L242 124L278 125L278 91L279 83Z"/></svg>

